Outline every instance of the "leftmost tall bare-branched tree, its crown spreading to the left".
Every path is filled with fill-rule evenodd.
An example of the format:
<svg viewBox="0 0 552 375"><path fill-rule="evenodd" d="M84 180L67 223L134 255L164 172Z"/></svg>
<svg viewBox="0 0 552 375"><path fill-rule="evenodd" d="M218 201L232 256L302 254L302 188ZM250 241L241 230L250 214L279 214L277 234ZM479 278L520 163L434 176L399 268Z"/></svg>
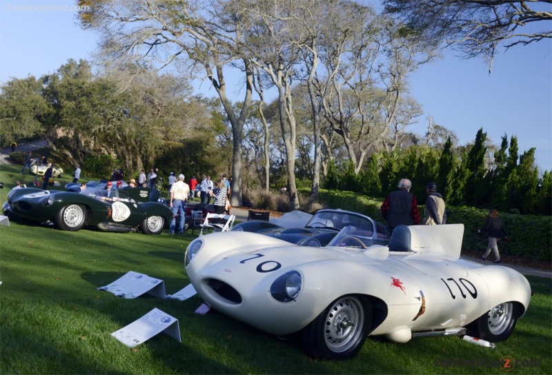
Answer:
<svg viewBox="0 0 552 375"><path fill-rule="evenodd" d="M155 2L141 0L79 0L84 28L102 35L103 63L146 66L161 70L184 69L191 77L207 79L219 95L233 134L232 204L242 203L242 133L253 93L253 70L235 50L239 19L224 14L216 1ZM228 26L228 28L223 28ZM246 90L243 105L235 112L226 93L224 69L242 70Z"/></svg>

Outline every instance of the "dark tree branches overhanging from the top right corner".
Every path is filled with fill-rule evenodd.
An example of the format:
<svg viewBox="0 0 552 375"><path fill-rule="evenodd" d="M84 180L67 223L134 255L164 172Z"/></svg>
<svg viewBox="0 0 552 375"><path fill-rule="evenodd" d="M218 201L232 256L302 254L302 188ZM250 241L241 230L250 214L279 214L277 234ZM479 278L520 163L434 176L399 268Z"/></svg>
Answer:
<svg viewBox="0 0 552 375"><path fill-rule="evenodd" d="M453 45L464 57L483 56L489 72L499 45L506 50L552 37L549 0L385 0L431 45ZM541 27L540 29L538 27Z"/></svg>

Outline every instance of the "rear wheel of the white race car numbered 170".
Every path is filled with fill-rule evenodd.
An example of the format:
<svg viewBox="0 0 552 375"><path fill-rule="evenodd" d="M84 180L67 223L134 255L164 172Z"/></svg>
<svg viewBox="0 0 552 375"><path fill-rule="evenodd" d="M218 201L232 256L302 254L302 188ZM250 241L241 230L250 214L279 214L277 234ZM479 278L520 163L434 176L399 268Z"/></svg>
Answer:
<svg viewBox="0 0 552 375"><path fill-rule="evenodd" d="M491 343L509 338L520 316L519 307L513 302L496 305L468 326L468 334Z"/></svg>

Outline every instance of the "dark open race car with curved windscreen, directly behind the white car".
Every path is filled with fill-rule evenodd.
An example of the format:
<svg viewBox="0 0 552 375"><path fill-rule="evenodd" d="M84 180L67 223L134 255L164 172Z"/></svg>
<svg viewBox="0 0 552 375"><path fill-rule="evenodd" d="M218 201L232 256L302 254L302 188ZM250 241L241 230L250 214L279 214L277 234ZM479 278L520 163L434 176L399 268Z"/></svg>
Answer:
<svg viewBox="0 0 552 375"><path fill-rule="evenodd" d="M308 218L308 215L306 216ZM311 216L302 227L284 227L284 217L279 223L275 221L243 221L233 227L233 231L255 232L275 237L302 246L326 246L342 230L343 227L354 225L371 232L370 245L385 245L389 241L387 227L368 216L345 210L319 210Z"/></svg>

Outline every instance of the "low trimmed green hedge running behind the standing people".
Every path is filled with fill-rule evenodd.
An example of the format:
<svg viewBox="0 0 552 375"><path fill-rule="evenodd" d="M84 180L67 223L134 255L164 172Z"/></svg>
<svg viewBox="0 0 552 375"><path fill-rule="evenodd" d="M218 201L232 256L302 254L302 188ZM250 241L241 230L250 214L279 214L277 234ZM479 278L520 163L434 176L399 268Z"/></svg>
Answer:
<svg viewBox="0 0 552 375"><path fill-rule="evenodd" d="M308 193L308 190L305 191ZM319 203L331 208L342 208L359 212L382 221L380 207L383 199L362 196L353 192L320 190ZM424 206L420 206L423 215ZM488 210L475 207L446 207L447 223L464 224L464 241L462 249L485 250L487 239L484 234L477 234L477 229L484 225ZM524 256L540 261L552 260L552 216L520 215L500 212L504 227L509 234L509 241L499 243L501 254Z"/></svg>

